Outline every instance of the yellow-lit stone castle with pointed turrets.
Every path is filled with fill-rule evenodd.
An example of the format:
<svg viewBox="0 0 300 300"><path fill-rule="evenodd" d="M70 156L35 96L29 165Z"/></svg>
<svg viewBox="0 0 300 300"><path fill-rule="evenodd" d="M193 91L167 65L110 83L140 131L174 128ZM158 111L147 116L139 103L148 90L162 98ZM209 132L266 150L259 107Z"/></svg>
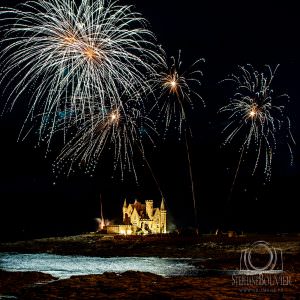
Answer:
<svg viewBox="0 0 300 300"><path fill-rule="evenodd" d="M135 200L123 204L123 224L107 226L107 233L117 234L158 234L167 232L167 210L162 199L160 208L153 207L153 200L146 200L145 204Z"/></svg>

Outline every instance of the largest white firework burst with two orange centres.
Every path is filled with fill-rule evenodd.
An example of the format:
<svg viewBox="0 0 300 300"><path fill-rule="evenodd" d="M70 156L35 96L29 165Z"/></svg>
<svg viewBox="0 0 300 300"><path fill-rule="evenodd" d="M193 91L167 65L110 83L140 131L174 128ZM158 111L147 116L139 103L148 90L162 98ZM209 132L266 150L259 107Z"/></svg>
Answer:
<svg viewBox="0 0 300 300"><path fill-rule="evenodd" d="M148 74L163 62L146 20L114 1L82 0L77 6L75 0L34 0L20 9L1 8L0 15L5 107L12 109L21 94L31 93L24 123L46 117L40 136L51 126L55 131L61 113L71 115L66 125L74 116L90 118L95 94L103 116L107 107L122 110L120 95L145 90Z"/></svg>

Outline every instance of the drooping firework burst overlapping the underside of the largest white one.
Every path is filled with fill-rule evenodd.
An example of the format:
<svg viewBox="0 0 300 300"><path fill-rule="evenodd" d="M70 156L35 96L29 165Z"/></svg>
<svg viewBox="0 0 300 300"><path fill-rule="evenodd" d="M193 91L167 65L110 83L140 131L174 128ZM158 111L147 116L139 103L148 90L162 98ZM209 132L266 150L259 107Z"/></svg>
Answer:
<svg viewBox="0 0 300 300"><path fill-rule="evenodd" d="M145 116L138 102L132 100L126 105L108 108L105 116L95 109L93 116L74 127L78 130L54 163L54 173L67 170L70 175L77 168L83 168L86 174L92 175L106 149L113 158L113 170L119 169L122 179L128 170L138 181L137 154L145 160L143 141L148 139L154 143L152 135L156 133L153 122Z"/></svg>

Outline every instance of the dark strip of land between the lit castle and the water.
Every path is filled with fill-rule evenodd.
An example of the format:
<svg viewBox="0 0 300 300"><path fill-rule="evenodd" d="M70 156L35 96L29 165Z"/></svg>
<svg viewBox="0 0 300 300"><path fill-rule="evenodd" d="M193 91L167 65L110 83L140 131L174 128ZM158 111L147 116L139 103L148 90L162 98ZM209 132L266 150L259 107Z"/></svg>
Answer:
<svg viewBox="0 0 300 300"><path fill-rule="evenodd" d="M256 241L266 241L280 249L285 265L300 273L300 236L251 235L219 236L111 236L88 233L77 236L43 238L0 243L0 252L48 253L93 257L161 257L208 259L208 269L237 267L241 252ZM202 262L200 262L202 263ZM204 262L203 262L204 263Z"/></svg>

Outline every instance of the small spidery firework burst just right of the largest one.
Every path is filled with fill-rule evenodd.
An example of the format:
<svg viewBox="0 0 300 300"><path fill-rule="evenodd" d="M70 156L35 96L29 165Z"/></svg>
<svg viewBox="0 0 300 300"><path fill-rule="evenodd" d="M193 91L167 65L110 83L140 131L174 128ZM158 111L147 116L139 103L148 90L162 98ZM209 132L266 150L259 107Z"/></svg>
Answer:
<svg viewBox="0 0 300 300"><path fill-rule="evenodd" d="M159 110L159 121L163 120L167 131L173 120L181 135L187 121L187 109L193 108L194 98L203 102L197 89L201 85L199 77L202 76L198 64L204 59L197 60L188 70L182 71L180 56L181 52L179 51L178 58L172 57L171 66L168 67L165 64L164 71L156 75L152 84L153 90L159 91L158 100L154 106Z"/></svg>

